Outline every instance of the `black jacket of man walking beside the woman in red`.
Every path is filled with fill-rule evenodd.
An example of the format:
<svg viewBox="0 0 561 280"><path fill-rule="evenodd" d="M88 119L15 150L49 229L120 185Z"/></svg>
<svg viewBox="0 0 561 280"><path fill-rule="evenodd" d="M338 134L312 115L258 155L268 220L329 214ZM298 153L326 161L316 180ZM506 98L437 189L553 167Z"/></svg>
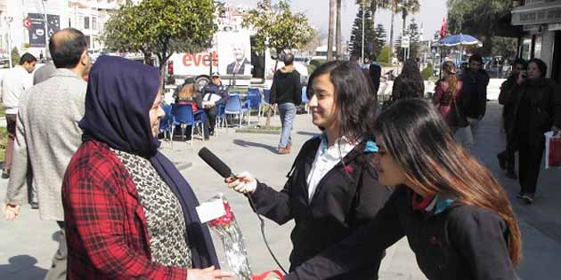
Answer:
<svg viewBox="0 0 561 280"><path fill-rule="evenodd" d="M472 118L481 118L487 107L487 84L489 76L484 70L475 72L467 69L459 79L463 85L459 94L458 106Z"/></svg>

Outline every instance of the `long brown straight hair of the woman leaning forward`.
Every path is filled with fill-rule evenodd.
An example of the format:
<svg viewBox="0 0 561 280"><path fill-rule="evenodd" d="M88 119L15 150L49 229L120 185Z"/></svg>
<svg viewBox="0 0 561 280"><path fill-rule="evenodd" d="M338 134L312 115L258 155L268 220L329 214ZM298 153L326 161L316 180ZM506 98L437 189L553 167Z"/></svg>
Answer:
<svg viewBox="0 0 561 280"><path fill-rule="evenodd" d="M495 212L505 220L510 259L515 265L519 262L520 230L505 190L483 164L456 144L432 104L419 99L397 101L378 116L373 131L416 188L427 195L458 197L462 204Z"/></svg>

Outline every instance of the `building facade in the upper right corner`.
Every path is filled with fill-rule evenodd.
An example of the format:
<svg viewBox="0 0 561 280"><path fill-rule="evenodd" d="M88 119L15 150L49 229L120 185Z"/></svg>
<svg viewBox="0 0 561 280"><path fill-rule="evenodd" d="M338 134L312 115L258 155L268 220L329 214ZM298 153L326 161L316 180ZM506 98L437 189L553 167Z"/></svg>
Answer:
<svg viewBox="0 0 561 280"><path fill-rule="evenodd" d="M561 0L515 0L511 24L523 28L519 56L544 60L547 76L561 83Z"/></svg>

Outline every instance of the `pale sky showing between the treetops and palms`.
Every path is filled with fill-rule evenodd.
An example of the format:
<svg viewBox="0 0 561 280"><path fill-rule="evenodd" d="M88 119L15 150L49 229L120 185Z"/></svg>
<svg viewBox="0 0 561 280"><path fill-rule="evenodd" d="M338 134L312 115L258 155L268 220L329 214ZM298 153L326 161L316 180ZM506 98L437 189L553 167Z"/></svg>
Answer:
<svg viewBox="0 0 561 280"><path fill-rule="evenodd" d="M242 4L247 7L255 7L256 0L226 0L224 1L234 6ZM276 3L277 1L272 1ZM343 0L342 6L342 35L343 42L348 40L351 36L351 28L353 28L353 21L358 12L358 5L354 4L355 0ZM412 15L415 17L419 27L422 23L425 32L425 39L435 34L436 30L440 30L443 18L446 16L446 0L420 0L420 11ZM329 24L329 1L328 0L292 0L290 8L293 12L304 12L308 16L310 23L314 28L325 32L327 34ZM390 29L390 12L378 10L376 12L376 23L381 23L386 28L389 36ZM411 20L411 15L408 17L408 24ZM398 13L395 15L394 21L394 38L399 36L402 27L402 15Z"/></svg>

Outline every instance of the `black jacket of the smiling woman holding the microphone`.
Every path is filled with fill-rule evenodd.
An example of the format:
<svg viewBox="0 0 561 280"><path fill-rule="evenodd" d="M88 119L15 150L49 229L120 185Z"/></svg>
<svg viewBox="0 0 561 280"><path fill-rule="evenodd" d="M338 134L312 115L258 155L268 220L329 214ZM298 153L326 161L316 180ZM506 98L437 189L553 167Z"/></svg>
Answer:
<svg viewBox="0 0 561 280"><path fill-rule="evenodd" d="M305 260L350 236L372 219L385 204L390 190L379 185L377 174L367 163L368 154L360 144L331 169L318 184L308 203L307 176L321 140L308 140L300 150L284 188L276 191L259 182L251 196L256 212L284 224L294 219L296 226L290 239L290 270ZM378 267L383 249L370 252L369 261L344 276L330 278L378 279Z"/></svg>

